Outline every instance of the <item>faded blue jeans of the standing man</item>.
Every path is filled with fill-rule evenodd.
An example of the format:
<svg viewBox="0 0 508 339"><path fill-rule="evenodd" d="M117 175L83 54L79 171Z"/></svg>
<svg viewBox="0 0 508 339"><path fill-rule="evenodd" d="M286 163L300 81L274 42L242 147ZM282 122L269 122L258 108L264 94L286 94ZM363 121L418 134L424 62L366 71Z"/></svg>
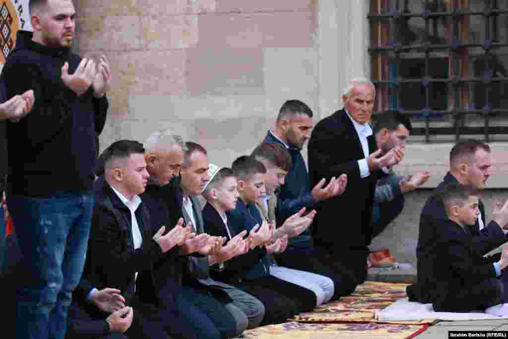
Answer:
<svg viewBox="0 0 508 339"><path fill-rule="evenodd" d="M85 263L93 196L8 194L7 201L30 278L16 291L16 337L63 339L72 291Z"/></svg>

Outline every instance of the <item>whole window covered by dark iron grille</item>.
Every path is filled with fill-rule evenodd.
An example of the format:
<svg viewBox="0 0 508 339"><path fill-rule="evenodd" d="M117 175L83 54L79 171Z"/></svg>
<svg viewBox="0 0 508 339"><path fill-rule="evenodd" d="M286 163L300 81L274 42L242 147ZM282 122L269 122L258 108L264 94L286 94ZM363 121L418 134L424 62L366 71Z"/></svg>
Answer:
<svg viewBox="0 0 508 339"><path fill-rule="evenodd" d="M371 0L375 114L414 139L508 140L508 0Z"/></svg>

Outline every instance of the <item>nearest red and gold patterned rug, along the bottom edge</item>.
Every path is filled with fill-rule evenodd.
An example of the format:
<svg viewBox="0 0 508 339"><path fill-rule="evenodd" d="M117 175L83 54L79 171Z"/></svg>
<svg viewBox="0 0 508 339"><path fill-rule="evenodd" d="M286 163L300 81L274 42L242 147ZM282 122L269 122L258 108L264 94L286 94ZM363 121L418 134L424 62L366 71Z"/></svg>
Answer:
<svg viewBox="0 0 508 339"><path fill-rule="evenodd" d="M289 322L258 327L246 331L247 339L409 339L427 329L428 325L393 325L375 323L302 324Z"/></svg>

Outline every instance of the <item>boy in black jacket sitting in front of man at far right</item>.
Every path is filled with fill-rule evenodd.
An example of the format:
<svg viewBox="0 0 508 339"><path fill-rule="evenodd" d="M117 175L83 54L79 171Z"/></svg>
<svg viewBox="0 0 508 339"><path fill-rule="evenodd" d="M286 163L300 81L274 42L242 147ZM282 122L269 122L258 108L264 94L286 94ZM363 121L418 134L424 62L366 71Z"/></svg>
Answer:
<svg viewBox="0 0 508 339"><path fill-rule="evenodd" d="M480 210L478 196L466 187L448 184L437 197L448 220L438 228L439 240L430 253L432 279L428 277L425 286L429 301L436 312L490 313L491 306L501 303L503 286L498 277L508 265L508 248L503 249L497 262L475 250L468 226L475 224Z"/></svg>

